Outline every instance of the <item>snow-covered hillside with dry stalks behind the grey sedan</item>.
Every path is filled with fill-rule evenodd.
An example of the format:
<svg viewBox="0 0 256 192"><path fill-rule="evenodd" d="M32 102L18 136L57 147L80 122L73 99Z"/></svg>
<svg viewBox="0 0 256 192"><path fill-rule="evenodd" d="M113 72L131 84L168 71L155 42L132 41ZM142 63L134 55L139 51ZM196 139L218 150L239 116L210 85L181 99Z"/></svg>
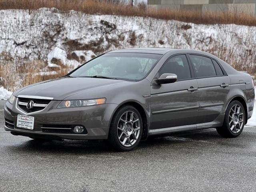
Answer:
<svg viewBox="0 0 256 192"><path fill-rule="evenodd" d="M88 15L55 8L0 10L0 53L13 58L46 61L58 47L64 50L66 64L78 64L109 50L171 47L207 51L248 70L246 66L256 63L255 44L254 26Z"/></svg>

